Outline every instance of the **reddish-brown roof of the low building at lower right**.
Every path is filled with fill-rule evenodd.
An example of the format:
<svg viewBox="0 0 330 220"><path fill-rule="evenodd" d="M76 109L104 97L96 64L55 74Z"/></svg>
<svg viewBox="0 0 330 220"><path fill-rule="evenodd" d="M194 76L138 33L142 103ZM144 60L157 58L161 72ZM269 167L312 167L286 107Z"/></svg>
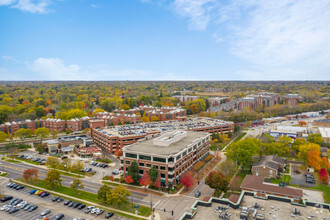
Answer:
<svg viewBox="0 0 330 220"><path fill-rule="evenodd" d="M264 177L246 175L242 184L241 189L259 190L266 193L282 194L294 197L303 197L303 190L295 189L291 187L281 187L273 184L264 183Z"/></svg>

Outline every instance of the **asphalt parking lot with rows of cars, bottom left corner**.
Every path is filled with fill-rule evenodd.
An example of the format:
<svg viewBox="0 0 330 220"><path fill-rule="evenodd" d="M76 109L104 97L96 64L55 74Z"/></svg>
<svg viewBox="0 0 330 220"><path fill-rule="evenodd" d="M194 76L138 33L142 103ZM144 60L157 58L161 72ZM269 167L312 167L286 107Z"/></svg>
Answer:
<svg viewBox="0 0 330 220"><path fill-rule="evenodd" d="M86 208L82 209L82 210L78 210L78 209L74 209L73 207L68 207L64 205L64 202L67 200L64 200L60 203L58 202L52 202L52 198L54 196L49 195L47 197L41 198L38 195L35 194L30 194L29 192L31 191L31 189L29 188L24 188L21 190L15 190L12 188L9 188L6 186L7 181L4 181L5 179L0 179L1 181L1 185L0 187L3 189L3 193L5 195L11 195L14 198L19 198L22 199L24 201L27 201L29 204L34 204L37 205L38 208L34 211L25 211L23 209L19 209L18 212L15 212L13 214L9 214L6 211L0 211L0 219L5 219L5 220L11 220L11 219L15 219L15 220L21 220L21 219L31 219L31 220L35 220L35 219L39 219L41 218L40 213L42 211L44 211L45 209L51 209L50 214L47 215L47 218L49 219L53 219L57 214L59 213L63 213L65 215L65 217L63 219L65 220L72 220L74 218L81 218L81 219L105 219L105 214L107 212L104 212L101 215L95 215L95 214L91 214L88 213L86 214L84 211L86 210ZM4 205L7 205L10 201L7 202L0 202L0 206L3 207ZM118 215L114 215L113 217L111 217L111 219L125 219L123 217L120 217Z"/></svg>

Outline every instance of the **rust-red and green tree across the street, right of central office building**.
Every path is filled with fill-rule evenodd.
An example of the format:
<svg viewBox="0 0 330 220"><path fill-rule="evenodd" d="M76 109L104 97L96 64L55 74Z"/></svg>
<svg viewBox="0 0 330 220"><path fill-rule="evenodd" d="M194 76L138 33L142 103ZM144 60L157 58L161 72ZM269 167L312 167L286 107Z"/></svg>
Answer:
<svg viewBox="0 0 330 220"><path fill-rule="evenodd" d="M214 189L217 193L221 191L227 192L229 181L225 174L221 171L212 171L209 175L205 178L205 183Z"/></svg>

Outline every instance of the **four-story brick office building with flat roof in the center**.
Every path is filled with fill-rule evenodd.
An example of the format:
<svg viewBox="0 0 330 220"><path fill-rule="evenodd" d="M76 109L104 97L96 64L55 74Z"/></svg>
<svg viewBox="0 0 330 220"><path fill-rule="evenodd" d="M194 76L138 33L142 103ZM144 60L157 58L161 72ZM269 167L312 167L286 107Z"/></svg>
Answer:
<svg viewBox="0 0 330 220"><path fill-rule="evenodd" d="M209 133L176 130L124 147L121 162L125 174L133 161L139 166L140 176L155 167L161 185L168 187L177 185L181 175L204 159L209 149Z"/></svg>

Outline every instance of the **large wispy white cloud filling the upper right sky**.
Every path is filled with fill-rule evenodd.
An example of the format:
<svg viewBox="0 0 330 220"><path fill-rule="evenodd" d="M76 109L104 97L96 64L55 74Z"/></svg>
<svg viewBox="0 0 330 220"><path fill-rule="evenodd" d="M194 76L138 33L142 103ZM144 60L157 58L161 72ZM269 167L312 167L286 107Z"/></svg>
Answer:
<svg viewBox="0 0 330 220"><path fill-rule="evenodd" d="M283 77L304 79L300 76L324 78L322 74L330 70L329 0L173 0L173 4L174 12L188 19L189 28L212 26L210 35L217 43L259 67L245 73L272 79L281 74L268 70L276 69L287 71Z"/></svg>

